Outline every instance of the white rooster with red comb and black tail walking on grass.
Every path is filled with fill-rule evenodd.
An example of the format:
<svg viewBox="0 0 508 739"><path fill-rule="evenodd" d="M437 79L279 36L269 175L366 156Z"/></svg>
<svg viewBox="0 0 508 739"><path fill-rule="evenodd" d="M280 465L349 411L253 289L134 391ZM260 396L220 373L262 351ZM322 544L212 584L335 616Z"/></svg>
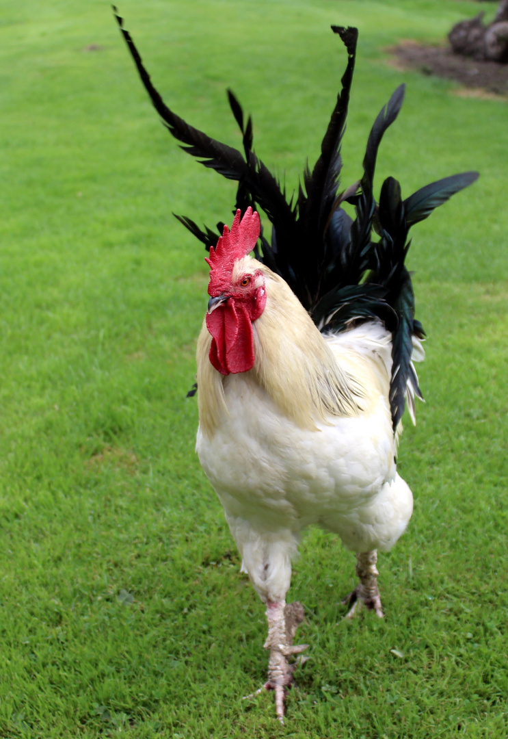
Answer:
<svg viewBox="0 0 508 739"><path fill-rule="evenodd" d="M253 151L252 120L245 123L233 92L244 155L165 105L117 21L169 132L202 164L238 182L233 225L219 223L218 241L212 229L177 216L210 251L197 345L196 451L224 506L242 571L267 605L264 687L275 691L284 721L294 655L307 646L293 644L303 607L286 605L305 528L338 534L357 555L359 583L345 599L348 615L363 605L383 616L377 551L397 542L413 510L411 490L397 473L400 420L407 405L414 421L414 398L422 398L413 361L423 358L425 333L414 318L405 268L408 231L478 174L446 177L404 200L388 177L376 202L377 150L402 106L400 86L374 122L363 177L339 193L357 30L332 26L348 53L342 89L320 157L288 202ZM354 206L354 219L343 202ZM272 224L270 241L257 209Z"/></svg>

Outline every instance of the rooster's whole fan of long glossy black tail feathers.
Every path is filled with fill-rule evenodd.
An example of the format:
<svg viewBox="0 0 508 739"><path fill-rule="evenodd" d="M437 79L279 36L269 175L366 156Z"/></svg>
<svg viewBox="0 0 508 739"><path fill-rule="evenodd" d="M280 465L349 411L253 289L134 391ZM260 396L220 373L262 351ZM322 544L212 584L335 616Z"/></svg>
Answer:
<svg viewBox="0 0 508 739"><path fill-rule="evenodd" d="M244 156L226 144L207 136L179 118L162 101L151 83L140 54L123 20L114 13L126 40L145 89L168 131L182 143L182 149L198 157L202 164L238 182L236 208L241 211L261 208L272 223L271 242L261 229L261 253L255 256L282 276L315 324L323 331L346 330L351 321L379 319L391 331L392 377L391 415L394 429L405 409L406 393L422 398L411 361L413 336L423 338L422 324L414 319L411 273L405 257L411 242L408 232L427 218L434 208L453 194L472 184L476 172L464 172L426 185L402 200L394 177L382 184L379 205L374 197L374 172L377 152L385 131L397 118L405 86L399 86L374 121L363 159L363 177L337 195L341 168L341 144L346 128L349 95L354 72L357 29L332 26L348 52L346 71L341 81L321 153L312 172L306 166L303 187L288 202L285 188L253 151L253 122L247 122L238 98L227 91L230 108L241 130ZM341 208L342 202L354 205L352 220ZM205 226L203 231L190 218L176 216L207 247L217 234ZM220 226L219 224L219 233ZM372 231L380 240L372 241Z"/></svg>

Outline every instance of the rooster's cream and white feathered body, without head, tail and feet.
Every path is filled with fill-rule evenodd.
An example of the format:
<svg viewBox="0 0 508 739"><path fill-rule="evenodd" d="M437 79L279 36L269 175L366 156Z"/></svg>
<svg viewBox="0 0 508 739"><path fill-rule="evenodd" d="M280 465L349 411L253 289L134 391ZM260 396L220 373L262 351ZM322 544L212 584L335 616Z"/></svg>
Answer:
<svg viewBox="0 0 508 739"><path fill-rule="evenodd" d="M386 551L413 499L394 460L390 334L371 322L323 338L284 282L249 261L267 290L255 364L221 375L203 327L196 449L253 585L278 602L303 528L334 531L352 551Z"/></svg>

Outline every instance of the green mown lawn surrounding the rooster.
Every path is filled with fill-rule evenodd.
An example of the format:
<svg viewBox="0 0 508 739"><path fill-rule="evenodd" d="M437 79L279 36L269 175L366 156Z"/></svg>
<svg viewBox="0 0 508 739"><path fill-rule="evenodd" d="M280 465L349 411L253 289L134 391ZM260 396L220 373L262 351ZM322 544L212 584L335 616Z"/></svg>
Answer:
<svg viewBox="0 0 508 739"><path fill-rule="evenodd" d="M291 599L311 659L274 720L264 613L193 454L199 245L171 216L229 220L234 186L168 137L107 3L4 0L0 22L0 736L142 739L507 735L506 103L397 72L383 49L440 41L483 4L122 0L177 112L256 149L292 188L318 156L360 27L344 178L401 81L378 186L481 179L415 228L427 398L399 469L405 537L380 561L387 618L342 620L351 555L311 531ZM89 50L95 46L95 50ZM97 47L99 47L97 49Z"/></svg>

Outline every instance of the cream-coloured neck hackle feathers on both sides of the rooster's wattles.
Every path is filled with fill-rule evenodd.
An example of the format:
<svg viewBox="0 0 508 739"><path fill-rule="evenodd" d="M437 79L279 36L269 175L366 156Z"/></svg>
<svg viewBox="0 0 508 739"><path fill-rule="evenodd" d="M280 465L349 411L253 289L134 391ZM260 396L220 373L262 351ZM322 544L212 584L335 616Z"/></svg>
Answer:
<svg viewBox="0 0 508 739"><path fill-rule="evenodd" d="M243 261L243 260L242 260ZM316 430L316 421L330 415L361 412L363 392L337 364L309 314L283 279L255 259L250 268L261 270L267 305L254 321L255 364L245 374L261 385L288 418L302 428ZM197 348L199 423L212 436L224 410L224 378L208 358L211 336L203 324Z"/></svg>

